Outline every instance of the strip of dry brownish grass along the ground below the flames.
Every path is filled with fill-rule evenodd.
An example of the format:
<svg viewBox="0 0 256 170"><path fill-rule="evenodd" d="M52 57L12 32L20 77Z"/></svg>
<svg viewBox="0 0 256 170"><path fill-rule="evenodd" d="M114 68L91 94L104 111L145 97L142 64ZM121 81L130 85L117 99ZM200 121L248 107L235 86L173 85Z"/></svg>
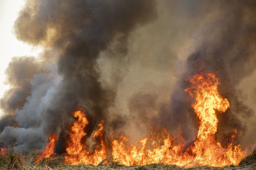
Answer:
<svg viewBox="0 0 256 170"><path fill-rule="evenodd" d="M116 162L108 165L92 166L92 165L78 165L70 166L63 162L63 155L52 157L51 159L44 159L39 163L35 163L37 150L33 150L28 154L22 152L14 153L8 152L4 156L0 156L0 169L45 169L45 170L56 170L56 169L184 169L173 165L163 164L150 164L147 166L122 166ZM244 160L241 161L239 166L228 166L228 167L193 167L189 169L256 169L256 150Z"/></svg>

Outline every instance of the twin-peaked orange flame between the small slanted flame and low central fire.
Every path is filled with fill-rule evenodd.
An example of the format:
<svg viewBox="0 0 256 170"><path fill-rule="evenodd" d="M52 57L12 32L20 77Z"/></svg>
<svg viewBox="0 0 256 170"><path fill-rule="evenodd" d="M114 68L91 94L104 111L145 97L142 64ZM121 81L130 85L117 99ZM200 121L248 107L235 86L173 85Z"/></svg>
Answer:
<svg viewBox="0 0 256 170"><path fill-rule="evenodd" d="M102 136L102 130L104 128L103 124L100 123L99 130L93 134L93 138L98 138L100 140L99 144L97 144L93 152L88 152L86 150L86 145L81 141L86 136L84 128L89 122L82 111L74 112L73 116L77 118L77 121L74 122L71 127L70 141L68 141L68 146L66 148L67 155L65 156L65 162L72 165L99 164L107 157L106 145Z"/></svg>

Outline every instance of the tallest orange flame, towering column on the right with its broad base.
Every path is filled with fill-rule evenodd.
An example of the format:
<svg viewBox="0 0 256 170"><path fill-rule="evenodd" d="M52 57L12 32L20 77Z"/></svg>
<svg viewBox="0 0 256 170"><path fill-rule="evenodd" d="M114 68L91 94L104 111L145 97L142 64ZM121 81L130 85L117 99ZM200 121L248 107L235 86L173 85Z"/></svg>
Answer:
<svg viewBox="0 0 256 170"><path fill-rule="evenodd" d="M221 146L216 141L215 134L218 131L218 118L216 111L224 113L229 108L227 99L223 99L218 93L219 80L215 74L204 71L189 78L191 87L186 89L191 97L195 96L192 104L196 117L200 120L197 139L191 151L195 154L195 162L200 165L228 166L237 165L243 159L244 153L240 145L227 147Z"/></svg>

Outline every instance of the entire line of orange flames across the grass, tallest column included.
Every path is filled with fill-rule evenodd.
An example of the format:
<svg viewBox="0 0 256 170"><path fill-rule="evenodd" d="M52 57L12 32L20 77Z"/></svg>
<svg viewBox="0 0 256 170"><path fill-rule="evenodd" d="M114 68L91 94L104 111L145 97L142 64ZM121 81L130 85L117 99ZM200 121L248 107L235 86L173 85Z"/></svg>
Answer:
<svg viewBox="0 0 256 170"><path fill-rule="evenodd" d="M221 145L215 138L216 132L218 132L216 111L225 113L230 106L228 100L218 93L220 84L218 78L215 74L200 71L188 78L187 81L191 85L185 91L194 99L191 106L199 122L195 141L185 147L182 136L173 138L166 129L141 139L138 141L138 145L127 145L129 139L120 136L111 142L111 154L114 161L125 166L175 164L182 167L224 167L239 164L244 158L244 152L240 145L234 145L234 139L242 132L238 133L237 129L234 129L234 133L230 133L227 138L228 144L226 145ZM73 116L77 118L77 121L70 127L70 140L66 147L65 162L74 165L99 164L108 155L102 134L103 120L98 124L99 129L92 135L96 145L90 152L83 140L87 135L84 128L89 124L86 115L78 110L73 113ZM54 153L56 139L57 136L50 137L50 143L37 161Z"/></svg>

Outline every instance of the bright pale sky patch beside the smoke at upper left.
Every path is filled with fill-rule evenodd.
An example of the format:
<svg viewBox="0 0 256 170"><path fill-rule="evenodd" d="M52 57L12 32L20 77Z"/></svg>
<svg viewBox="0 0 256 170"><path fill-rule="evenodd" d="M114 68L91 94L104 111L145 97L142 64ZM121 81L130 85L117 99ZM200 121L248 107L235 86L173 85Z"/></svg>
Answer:
<svg viewBox="0 0 256 170"><path fill-rule="evenodd" d="M13 24L24 6L25 0L0 0L0 98L8 85L4 85L4 71L12 57L37 56L41 49L33 47L15 38ZM0 116L2 112L0 110Z"/></svg>

